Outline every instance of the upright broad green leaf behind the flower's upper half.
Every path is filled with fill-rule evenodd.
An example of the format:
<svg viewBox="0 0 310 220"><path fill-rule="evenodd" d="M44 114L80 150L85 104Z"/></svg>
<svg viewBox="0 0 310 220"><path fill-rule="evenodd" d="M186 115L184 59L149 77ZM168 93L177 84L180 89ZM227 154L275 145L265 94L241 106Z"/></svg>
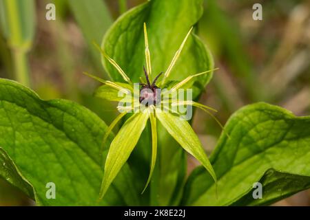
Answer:
<svg viewBox="0 0 310 220"><path fill-rule="evenodd" d="M168 14L168 16L167 16ZM143 76L145 39L143 23L147 25L152 76L165 72L189 29L203 14L202 0L152 0L129 10L105 34L103 50L130 76L133 82ZM121 82L117 70L103 61L110 77ZM191 34L169 80L183 80L213 68L213 60L198 36ZM211 74L196 81L206 85Z"/></svg>

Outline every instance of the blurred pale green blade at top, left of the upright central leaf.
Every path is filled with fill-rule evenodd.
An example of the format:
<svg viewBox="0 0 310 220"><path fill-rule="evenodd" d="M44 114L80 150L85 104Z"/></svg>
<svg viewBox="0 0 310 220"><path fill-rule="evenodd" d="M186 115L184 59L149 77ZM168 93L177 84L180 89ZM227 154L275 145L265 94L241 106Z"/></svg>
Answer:
<svg viewBox="0 0 310 220"><path fill-rule="evenodd" d="M100 53L93 42L100 43L103 34L112 25L110 12L101 0L68 0L79 28L85 37L88 48L97 67L101 66Z"/></svg>

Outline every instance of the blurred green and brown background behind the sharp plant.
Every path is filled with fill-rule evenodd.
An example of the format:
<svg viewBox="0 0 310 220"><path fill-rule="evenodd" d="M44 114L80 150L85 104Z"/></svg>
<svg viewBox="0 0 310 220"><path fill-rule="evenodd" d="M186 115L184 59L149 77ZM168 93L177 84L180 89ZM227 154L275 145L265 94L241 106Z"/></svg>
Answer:
<svg viewBox="0 0 310 220"><path fill-rule="evenodd" d="M101 43L110 25L143 0L0 0L0 77L28 85L43 99L66 98L83 104L110 124L114 104L92 97L98 86L82 72L107 78L92 41ZM56 5L56 21L45 7ZM262 21L252 6L262 4ZM225 124L231 113L265 101L310 115L310 2L301 0L205 0L198 35L214 55L214 74L200 102L218 109ZM193 121L207 153L220 127L203 112ZM188 173L198 165L188 159ZM0 206L35 205L0 179ZM309 206L309 190L276 206Z"/></svg>

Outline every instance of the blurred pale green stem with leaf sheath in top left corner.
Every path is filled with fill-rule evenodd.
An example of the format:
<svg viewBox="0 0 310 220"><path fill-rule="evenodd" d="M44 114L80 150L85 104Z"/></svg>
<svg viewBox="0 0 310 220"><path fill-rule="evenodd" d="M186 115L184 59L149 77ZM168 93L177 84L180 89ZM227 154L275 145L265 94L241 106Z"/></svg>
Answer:
<svg viewBox="0 0 310 220"><path fill-rule="evenodd" d="M27 53L32 47L36 26L34 0L1 0L0 12L1 32L14 61L14 78L29 86Z"/></svg>

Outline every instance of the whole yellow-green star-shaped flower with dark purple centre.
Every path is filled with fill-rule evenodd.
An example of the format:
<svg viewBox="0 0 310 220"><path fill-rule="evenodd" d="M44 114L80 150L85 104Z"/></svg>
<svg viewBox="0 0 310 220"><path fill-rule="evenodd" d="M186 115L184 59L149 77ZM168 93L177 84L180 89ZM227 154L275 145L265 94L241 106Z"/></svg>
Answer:
<svg viewBox="0 0 310 220"><path fill-rule="evenodd" d="M174 137L174 139L178 142L178 144L180 144L180 146L185 149L185 151L196 157L196 159L198 159L198 161L203 164L203 166L213 177L214 181L216 181L216 174L214 173L214 169L212 168L209 159L207 158L207 155L203 150L203 146L198 140L196 133L194 133L192 126L190 126L190 124L181 117L182 115L180 115L180 112L176 110L176 107L194 106L202 109L203 111L206 111L210 115L211 113L209 112L209 110L216 110L198 102L194 102L192 100L180 100L178 98L170 98L169 96L169 94L173 93L178 94L178 91L185 88L185 85L187 85L187 83L189 83L192 78L203 74L211 73L216 69L211 69L200 74L188 76L184 80L178 83L174 83L173 85L168 85L169 83L166 83L167 79L169 79L170 72L172 71L172 68L178 60L178 57L180 56L185 42L187 41L187 38L191 32L192 28L185 36L183 43L181 43L178 51L174 55L174 58L172 59L172 62L167 68L165 74L159 74L152 81L152 67L147 40L147 29L144 23L146 69L143 66L143 70L145 73L146 82L141 78L142 82L138 84L132 83L132 81L127 76L127 74L125 74L123 69L121 69L121 67L119 67L119 65L112 58L107 56L107 54L105 54L101 47L98 46L99 50L101 50L101 53L105 56L105 58L107 58L107 61L114 65L114 67L118 70L118 73L121 74L121 76L126 82L111 82L109 80L103 80L91 74L84 73L87 76L90 76L104 84L104 86L101 88L101 98L112 101L121 101L121 104L119 104L117 107L118 111L121 111L121 114L116 117L116 119L112 122L112 124L110 124L109 128L107 129L103 140L103 146L114 126L125 115L127 115L127 113L131 113L132 111L134 112L132 116L128 118L127 121L123 124L110 145L109 151L107 153L107 158L105 160L103 181L99 195L100 199L103 198L105 192L109 188L110 184L112 184L112 181L118 174L119 170L121 170L123 164L125 164L127 159L130 157L130 154L134 150L134 147L136 146L141 136L141 133L145 129L147 120L150 121L152 129L152 159L149 177L147 179L147 183L145 184L144 190L149 184L156 163L157 120L161 122L167 132L172 135L172 137ZM162 74L163 80L161 80L159 83L156 83L160 79ZM138 89L137 87L135 87L135 85L138 85ZM122 96L120 97L120 94L125 94L125 98L122 98ZM124 103L126 104L126 106L123 105Z"/></svg>

